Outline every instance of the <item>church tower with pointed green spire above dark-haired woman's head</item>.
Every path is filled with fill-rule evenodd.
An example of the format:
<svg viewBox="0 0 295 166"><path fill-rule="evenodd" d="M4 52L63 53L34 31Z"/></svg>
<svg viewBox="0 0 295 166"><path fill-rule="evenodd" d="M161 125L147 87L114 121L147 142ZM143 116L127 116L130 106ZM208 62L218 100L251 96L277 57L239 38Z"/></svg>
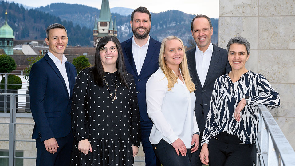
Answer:
<svg viewBox="0 0 295 166"><path fill-rule="evenodd" d="M111 10L108 0L102 0L99 18L95 22L93 28L93 41L94 47L97 46L98 41L107 35L117 36L118 30L116 27L116 18L115 22L113 22L111 17Z"/></svg>

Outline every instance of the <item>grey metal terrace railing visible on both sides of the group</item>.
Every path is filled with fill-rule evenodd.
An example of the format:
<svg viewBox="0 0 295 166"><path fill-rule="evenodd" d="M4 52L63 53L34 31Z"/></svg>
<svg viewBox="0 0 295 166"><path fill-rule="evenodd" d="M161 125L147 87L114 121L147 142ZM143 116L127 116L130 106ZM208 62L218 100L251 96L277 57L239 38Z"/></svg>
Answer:
<svg viewBox="0 0 295 166"><path fill-rule="evenodd" d="M0 117L10 117L10 123L0 123L9 125L9 139L0 141L9 141L9 156L0 156L0 158L8 158L9 166L15 166L15 159L36 159L35 157L16 157L16 142L34 142L34 140L17 140L16 125L34 125L34 123L17 123L16 117L30 117L31 113L17 113L16 99L19 96L28 96L29 94L1 94L5 97L9 96L10 113L0 113ZM259 110L259 126L256 139L256 162L257 166L295 166L295 152L276 121L264 105L258 106ZM135 162L144 162L144 160L135 160Z"/></svg>

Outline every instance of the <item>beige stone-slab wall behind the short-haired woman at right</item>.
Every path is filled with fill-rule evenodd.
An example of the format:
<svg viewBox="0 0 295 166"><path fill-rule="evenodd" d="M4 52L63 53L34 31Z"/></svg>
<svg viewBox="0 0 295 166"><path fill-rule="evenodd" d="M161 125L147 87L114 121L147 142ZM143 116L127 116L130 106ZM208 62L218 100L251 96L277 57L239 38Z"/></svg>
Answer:
<svg viewBox="0 0 295 166"><path fill-rule="evenodd" d="M295 149L295 0L219 0L219 43L234 36L250 42L246 69L264 75L280 93L281 107L269 109Z"/></svg>

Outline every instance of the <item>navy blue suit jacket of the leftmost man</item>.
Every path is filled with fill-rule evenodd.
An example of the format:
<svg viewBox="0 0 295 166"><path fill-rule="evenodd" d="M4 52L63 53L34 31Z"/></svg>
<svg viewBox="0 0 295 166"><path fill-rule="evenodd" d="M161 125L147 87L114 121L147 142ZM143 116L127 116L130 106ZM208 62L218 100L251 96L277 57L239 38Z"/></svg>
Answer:
<svg viewBox="0 0 295 166"><path fill-rule="evenodd" d="M77 76L73 64L65 62L72 91ZM54 62L46 54L33 64L30 77L30 107L35 126L32 138L41 142L49 138L61 138L71 132L71 99L65 81Z"/></svg>

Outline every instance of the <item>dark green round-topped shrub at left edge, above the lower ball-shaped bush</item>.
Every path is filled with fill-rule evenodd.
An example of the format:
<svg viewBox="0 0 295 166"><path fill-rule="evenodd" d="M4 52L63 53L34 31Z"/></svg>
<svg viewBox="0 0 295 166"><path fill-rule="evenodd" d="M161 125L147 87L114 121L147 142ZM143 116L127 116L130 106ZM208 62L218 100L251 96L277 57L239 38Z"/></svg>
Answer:
<svg viewBox="0 0 295 166"><path fill-rule="evenodd" d="M14 59L6 54L0 55L0 73L9 73L16 69ZM3 75L2 75L3 78Z"/></svg>

